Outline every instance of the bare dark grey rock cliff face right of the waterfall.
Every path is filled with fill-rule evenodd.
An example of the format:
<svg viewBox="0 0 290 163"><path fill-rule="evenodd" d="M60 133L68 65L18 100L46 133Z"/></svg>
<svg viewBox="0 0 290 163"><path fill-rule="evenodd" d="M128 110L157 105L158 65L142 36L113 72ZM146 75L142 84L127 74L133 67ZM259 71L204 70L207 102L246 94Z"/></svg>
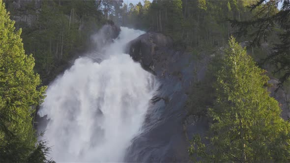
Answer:
<svg viewBox="0 0 290 163"><path fill-rule="evenodd" d="M145 132L133 140L126 154L126 162L189 162L188 139L193 134L203 135L208 129L206 115L187 115L187 94L195 81L203 81L207 63L213 54L194 59L192 54L176 51L173 40L160 33L145 33L127 45L127 53L156 75L161 86L148 110ZM276 83L270 80L269 83ZM284 119L289 115L289 95L274 93L283 109Z"/></svg>

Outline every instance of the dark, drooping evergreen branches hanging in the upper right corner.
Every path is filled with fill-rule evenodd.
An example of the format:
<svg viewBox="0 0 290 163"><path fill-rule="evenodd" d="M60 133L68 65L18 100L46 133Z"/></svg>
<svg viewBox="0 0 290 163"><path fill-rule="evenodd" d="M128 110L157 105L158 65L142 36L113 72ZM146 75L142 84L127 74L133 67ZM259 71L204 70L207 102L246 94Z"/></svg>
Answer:
<svg viewBox="0 0 290 163"><path fill-rule="evenodd" d="M279 3L282 4L278 10ZM252 20L232 20L232 26L238 27L239 37L252 36L252 45L260 46L261 42L268 42L269 35L276 31L280 41L273 46L273 51L266 58L276 66L275 73L281 73L279 87L290 78L290 0L259 0L249 5L251 11L256 12ZM253 30L253 27L256 30ZM280 30L277 30L279 29Z"/></svg>

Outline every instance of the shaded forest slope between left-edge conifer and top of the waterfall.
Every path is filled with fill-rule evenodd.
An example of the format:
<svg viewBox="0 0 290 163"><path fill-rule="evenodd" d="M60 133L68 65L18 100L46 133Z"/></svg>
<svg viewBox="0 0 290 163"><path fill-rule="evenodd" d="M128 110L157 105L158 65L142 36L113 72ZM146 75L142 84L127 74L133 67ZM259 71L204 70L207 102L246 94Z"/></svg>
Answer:
<svg viewBox="0 0 290 163"><path fill-rule="evenodd" d="M26 54L33 54L35 70L45 84L76 55L89 48L91 35L105 24L92 0L3 1L15 27L22 28Z"/></svg>

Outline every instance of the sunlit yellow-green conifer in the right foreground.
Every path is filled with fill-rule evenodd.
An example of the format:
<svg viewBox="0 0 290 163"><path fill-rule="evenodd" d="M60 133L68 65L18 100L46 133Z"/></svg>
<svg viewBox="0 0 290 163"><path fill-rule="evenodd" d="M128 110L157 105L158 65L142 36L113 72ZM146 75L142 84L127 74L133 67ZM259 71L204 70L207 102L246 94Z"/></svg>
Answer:
<svg viewBox="0 0 290 163"><path fill-rule="evenodd" d="M214 85L217 100L206 144L194 136L192 156L203 162L289 162L289 122L265 88L268 77L232 37ZM195 155L196 154L196 155Z"/></svg>

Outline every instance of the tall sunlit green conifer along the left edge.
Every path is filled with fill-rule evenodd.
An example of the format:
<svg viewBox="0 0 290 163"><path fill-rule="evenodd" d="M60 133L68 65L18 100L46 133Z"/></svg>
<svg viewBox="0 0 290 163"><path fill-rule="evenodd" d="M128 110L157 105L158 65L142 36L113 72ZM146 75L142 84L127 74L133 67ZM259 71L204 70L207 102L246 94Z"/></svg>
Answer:
<svg viewBox="0 0 290 163"><path fill-rule="evenodd" d="M0 162L46 162L49 148L43 142L35 147L31 123L32 106L42 102L46 86L39 87L34 58L25 54L21 29L16 31L14 23L0 0ZM34 153L42 156L29 159Z"/></svg>

